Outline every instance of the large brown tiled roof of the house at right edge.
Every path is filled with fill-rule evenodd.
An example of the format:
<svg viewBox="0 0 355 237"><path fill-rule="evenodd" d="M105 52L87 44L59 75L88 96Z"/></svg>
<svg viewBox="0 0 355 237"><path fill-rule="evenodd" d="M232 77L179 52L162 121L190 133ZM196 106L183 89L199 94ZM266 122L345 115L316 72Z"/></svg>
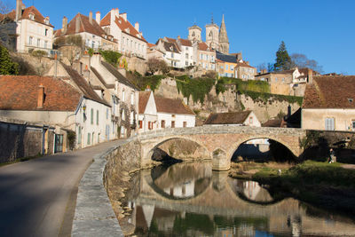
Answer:
<svg viewBox="0 0 355 237"><path fill-rule="evenodd" d="M302 107L355 108L355 75L313 76L313 83L306 86Z"/></svg>

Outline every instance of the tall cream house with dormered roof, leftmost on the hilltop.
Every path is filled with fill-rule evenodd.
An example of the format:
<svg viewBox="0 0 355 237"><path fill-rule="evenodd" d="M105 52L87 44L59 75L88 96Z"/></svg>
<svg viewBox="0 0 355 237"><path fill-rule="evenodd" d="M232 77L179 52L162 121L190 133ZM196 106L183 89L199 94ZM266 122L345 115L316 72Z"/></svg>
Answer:
<svg viewBox="0 0 355 237"><path fill-rule="evenodd" d="M26 7L16 1L16 10L0 14L0 40L13 51L47 51L52 49L53 26L49 17L43 17L35 6Z"/></svg>

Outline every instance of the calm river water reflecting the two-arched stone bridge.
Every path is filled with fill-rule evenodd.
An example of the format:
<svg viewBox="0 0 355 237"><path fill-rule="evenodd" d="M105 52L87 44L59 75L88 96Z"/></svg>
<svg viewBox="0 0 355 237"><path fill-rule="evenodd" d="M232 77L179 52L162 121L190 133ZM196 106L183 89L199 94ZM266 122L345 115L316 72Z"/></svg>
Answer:
<svg viewBox="0 0 355 237"><path fill-rule="evenodd" d="M276 201L258 183L212 172L210 163L143 170L125 222L138 236L354 236L355 224L292 198ZM263 235L269 234L269 235Z"/></svg>

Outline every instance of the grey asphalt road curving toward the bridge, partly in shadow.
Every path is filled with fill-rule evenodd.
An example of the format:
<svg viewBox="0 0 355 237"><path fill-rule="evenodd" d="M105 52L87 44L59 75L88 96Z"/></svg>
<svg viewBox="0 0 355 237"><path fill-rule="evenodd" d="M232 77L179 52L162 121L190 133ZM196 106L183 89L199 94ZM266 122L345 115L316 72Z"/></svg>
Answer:
<svg viewBox="0 0 355 237"><path fill-rule="evenodd" d="M0 236L69 236L77 186L108 142L0 168Z"/></svg>

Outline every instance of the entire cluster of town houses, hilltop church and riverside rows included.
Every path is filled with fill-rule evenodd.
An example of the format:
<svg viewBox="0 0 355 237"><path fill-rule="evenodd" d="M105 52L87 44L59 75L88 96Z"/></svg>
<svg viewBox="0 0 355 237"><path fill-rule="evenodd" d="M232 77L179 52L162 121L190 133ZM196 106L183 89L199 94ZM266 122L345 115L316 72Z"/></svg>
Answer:
<svg viewBox="0 0 355 237"><path fill-rule="evenodd" d="M127 57L162 59L171 67L198 67L220 76L259 80L272 93L304 96L302 111L285 120L262 124L252 111L212 114L205 125L298 127L307 130L355 130L355 76L318 75L309 68L259 74L256 67L229 53L225 20L221 27L189 28L187 39L163 37L147 43L139 24L113 9L101 17L78 13L54 31L49 17L17 0L16 9L0 15L0 41L13 51L47 51L57 39L81 36L85 47L119 51ZM139 91L99 53L76 57L69 64L52 60L43 76L0 75L0 158L66 152L139 132L195 126L195 115L181 100ZM4 146L4 147L2 147ZM32 151L32 152L28 152ZM1 159L0 159L1 162Z"/></svg>

